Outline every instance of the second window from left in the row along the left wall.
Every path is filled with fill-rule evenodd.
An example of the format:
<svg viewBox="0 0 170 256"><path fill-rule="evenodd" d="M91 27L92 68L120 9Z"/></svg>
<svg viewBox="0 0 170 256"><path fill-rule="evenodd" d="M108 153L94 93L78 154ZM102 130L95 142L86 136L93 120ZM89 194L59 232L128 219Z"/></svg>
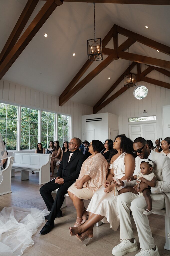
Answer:
<svg viewBox="0 0 170 256"><path fill-rule="evenodd" d="M21 107L21 149L36 149L38 143L38 110Z"/></svg>

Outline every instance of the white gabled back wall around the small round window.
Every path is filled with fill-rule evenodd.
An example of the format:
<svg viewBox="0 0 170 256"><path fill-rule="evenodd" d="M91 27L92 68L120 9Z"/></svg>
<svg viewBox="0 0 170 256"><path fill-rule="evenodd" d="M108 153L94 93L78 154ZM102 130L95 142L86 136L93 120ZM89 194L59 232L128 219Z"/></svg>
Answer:
<svg viewBox="0 0 170 256"><path fill-rule="evenodd" d="M143 72L148 66L141 65L141 72ZM137 73L136 67L133 69L134 73ZM150 77L156 80L170 83L170 78L161 74L158 71L153 70L146 77ZM163 134L163 108L162 106L170 105L170 89L166 89L160 86L156 86L146 82L138 82L137 85L144 85L148 88L148 95L142 100L137 100L133 96L133 91L136 87L129 88L126 92L121 94L98 113L113 113L119 116L119 133L129 136L128 131L128 118L138 116L151 116L156 115L157 137L164 137ZM123 87L122 82L113 90L113 92L107 97L109 98L120 88ZM147 111L147 114L143 114L143 110ZM169 116L170 119L170 116ZM170 136L170 134L169 134Z"/></svg>

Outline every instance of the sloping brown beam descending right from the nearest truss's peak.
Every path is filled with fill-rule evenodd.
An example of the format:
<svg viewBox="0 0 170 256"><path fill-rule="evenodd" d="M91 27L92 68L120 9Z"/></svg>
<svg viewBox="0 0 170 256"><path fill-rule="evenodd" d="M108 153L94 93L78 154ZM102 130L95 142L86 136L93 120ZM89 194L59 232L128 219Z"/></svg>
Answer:
<svg viewBox="0 0 170 256"><path fill-rule="evenodd" d="M169 3L170 3L170 1L169 1ZM145 36L139 35L139 34L134 33L126 28L122 28L119 26L117 26L117 31L121 35L134 38L137 42L140 42L141 44L147 45L153 49L159 50L165 54L170 55L170 47L167 45L163 45L159 42L156 42L156 41L151 40Z"/></svg>

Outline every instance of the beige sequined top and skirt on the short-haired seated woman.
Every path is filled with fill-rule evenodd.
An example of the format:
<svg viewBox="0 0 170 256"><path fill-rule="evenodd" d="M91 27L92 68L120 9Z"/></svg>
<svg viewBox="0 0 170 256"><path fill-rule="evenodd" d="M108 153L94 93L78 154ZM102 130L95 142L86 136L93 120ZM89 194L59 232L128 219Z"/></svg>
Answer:
<svg viewBox="0 0 170 256"><path fill-rule="evenodd" d="M68 191L80 199L88 200L104 184L107 173L108 163L101 153L89 156L81 166L78 179L81 179L84 175L89 175L91 178L85 183L82 189L77 189L74 183L69 187Z"/></svg>

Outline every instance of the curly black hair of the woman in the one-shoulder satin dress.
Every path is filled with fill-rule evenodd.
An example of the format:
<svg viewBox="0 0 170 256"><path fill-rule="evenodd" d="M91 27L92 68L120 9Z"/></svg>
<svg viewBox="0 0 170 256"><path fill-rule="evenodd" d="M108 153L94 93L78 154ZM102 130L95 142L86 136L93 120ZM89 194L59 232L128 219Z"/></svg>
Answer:
<svg viewBox="0 0 170 256"><path fill-rule="evenodd" d="M121 142L120 142L120 153L126 152L126 153L131 154L133 157L135 157L135 154L132 152L133 151L133 141L130 140L129 138L127 138L125 134L117 135L115 140L118 137L121 139ZM114 142L115 142L115 140L114 140ZM117 153L117 150L115 150L115 151Z"/></svg>

